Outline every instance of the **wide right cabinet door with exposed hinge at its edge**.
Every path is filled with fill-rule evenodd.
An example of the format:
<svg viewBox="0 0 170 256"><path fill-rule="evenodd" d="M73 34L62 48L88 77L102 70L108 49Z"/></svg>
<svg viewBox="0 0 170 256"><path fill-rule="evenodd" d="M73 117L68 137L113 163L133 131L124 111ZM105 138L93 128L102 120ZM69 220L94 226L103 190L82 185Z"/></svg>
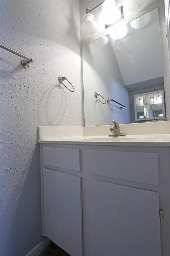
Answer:
<svg viewBox="0 0 170 256"><path fill-rule="evenodd" d="M88 256L160 256L158 193L88 180Z"/></svg>

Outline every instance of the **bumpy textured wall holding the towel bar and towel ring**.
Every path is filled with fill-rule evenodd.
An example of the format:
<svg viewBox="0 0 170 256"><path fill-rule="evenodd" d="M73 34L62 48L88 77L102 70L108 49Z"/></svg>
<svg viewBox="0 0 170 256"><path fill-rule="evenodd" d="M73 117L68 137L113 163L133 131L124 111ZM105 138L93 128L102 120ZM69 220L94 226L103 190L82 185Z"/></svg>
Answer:
<svg viewBox="0 0 170 256"><path fill-rule="evenodd" d="M0 1L1 256L24 256L41 240L38 125L82 125L79 1ZM75 92L58 84L66 75Z"/></svg>

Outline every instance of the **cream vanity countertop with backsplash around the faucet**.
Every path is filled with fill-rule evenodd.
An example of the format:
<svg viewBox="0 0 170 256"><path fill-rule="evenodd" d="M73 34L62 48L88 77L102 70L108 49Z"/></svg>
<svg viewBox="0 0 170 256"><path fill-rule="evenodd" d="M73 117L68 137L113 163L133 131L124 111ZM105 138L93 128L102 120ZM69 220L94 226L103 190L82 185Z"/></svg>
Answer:
<svg viewBox="0 0 170 256"><path fill-rule="evenodd" d="M39 126L38 143L170 146L170 121L120 125L120 131L126 133L126 137L109 137L110 127L109 125L96 127ZM138 134L139 131L148 132L148 134ZM159 134L160 131L161 134Z"/></svg>

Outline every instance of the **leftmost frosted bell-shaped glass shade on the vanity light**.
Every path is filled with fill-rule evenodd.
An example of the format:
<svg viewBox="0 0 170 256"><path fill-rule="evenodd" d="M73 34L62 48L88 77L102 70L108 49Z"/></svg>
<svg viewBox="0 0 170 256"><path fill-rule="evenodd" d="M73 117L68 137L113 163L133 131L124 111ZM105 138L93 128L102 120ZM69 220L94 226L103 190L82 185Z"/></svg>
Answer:
<svg viewBox="0 0 170 256"><path fill-rule="evenodd" d="M98 30L98 24L94 21L94 16L91 13L85 14L83 16L83 22L80 26L80 31L84 35L92 35Z"/></svg>

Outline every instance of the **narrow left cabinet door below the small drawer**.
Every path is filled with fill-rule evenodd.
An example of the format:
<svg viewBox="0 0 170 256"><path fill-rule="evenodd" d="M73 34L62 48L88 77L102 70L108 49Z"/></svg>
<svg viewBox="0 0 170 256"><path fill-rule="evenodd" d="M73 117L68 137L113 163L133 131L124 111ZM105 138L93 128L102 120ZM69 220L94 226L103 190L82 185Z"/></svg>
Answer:
<svg viewBox="0 0 170 256"><path fill-rule="evenodd" d="M81 178L43 169L44 230L72 256L82 255Z"/></svg>

